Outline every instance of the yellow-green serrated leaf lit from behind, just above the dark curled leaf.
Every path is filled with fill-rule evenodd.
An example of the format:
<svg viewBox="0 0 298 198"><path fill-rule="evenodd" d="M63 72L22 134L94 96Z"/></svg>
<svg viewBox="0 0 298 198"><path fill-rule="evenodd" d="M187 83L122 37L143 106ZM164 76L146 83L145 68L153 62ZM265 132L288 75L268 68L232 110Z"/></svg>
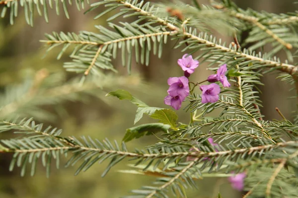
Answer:
<svg viewBox="0 0 298 198"><path fill-rule="evenodd" d="M175 111L171 109L160 109L155 110L153 114L150 115L151 118L159 120L159 122L163 124L168 124L171 126L172 129L177 129L177 119L178 115Z"/></svg>

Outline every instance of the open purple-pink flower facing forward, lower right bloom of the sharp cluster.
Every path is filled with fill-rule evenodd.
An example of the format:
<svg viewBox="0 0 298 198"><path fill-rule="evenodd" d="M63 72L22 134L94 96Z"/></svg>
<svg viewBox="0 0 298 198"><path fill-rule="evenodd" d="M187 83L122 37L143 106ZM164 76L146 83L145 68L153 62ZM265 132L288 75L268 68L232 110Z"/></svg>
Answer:
<svg viewBox="0 0 298 198"><path fill-rule="evenodd" d="M202 103L214 103L219 100L221 88L218 84L201 85L200 89L202 90Z"/></svg>

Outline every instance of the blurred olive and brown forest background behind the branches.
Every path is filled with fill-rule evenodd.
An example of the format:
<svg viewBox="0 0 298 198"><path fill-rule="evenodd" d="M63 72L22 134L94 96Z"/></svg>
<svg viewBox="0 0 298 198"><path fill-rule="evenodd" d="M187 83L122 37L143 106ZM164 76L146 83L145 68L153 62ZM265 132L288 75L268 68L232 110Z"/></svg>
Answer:
<svg viewBox="0 0 298 198"><path fill-rule="evenodd" d="M191 1L188 2L191 3ZM204 4L207 0L198 0L198 2ZM275 13L295 11L297 8L297 5L293 4L294 0L235 0L235 2L242 8L250 7L258 11L266 10ZM52 31L96 32L94 25L106 25L105 19L109 16L105 15L103 18L93 20L93 17L100 11L102 10L96 9L84 15L83 11L78 11L73 5L69 6L70 19L67 19L64 14L57 16L55 10L49 10L49 23L46 23L43 17L36 16L34 27L26 24L22 11L13 26L9 24L8 14L0 19L0 91L4 92L7 86L22 85L28 78L36 79L41 73L46 73L46 76L50 75L54 79L59 78L59 81L68 81L77 76L77 74L66 72L63 68L63 62L69 61L67 52L60 60L56 59L58 49L50 51L42 58L46 49L39 40L45 39L44 34ZM116 12L117 10L114 11ZM243 33L242 39L245 35L246 33ZM224 38L227 42L232 41L224 35L217 34L217 36ZM119 60L113 61L119 70L117 75L124 75L124 80L118 82L117 85L129 89L137 98L144 100L150 106L165 107L163 98L166 96L167 78L183 75L177 65L177 59L183 53L172 49L173 46L173 42L168 42L160 59L151 55L148 67L134 63L131 76L128 76L126 68L121 66ZM283 53L279 56L281 59L285 58ZM209 74L211 72L206 70L206 65L201 64L191 78L193 81L201 81ZM291 120L291 111L296 108L296 101L287 98L293 96L294 93L289 91L290 85L275 80L276 76L277 74L271 73L262 79L265 84L264 87L260 87L263 92L260 97L264 101L262 113L266 116L265 120L280 119L275 111L275 107L279 107L282 113ZM105 99L105 93L117 88L117 86L107 87L103 90L93 90L98 93L87 97L83 102L62 101L59 104L42 106L44 110L52 113L52 116L43 118L43 123L62 128L64 136L84 135L99 140L107 137L109 140L115 139L120 142L126 129L133 127L136 106L128 101ZM29 94L22 99L36 97L34 92L31 94L32 96ZM26 102L22 100L16 102L16 109L25 104ZM57 111L57 108L64 110ZM183 110L179 110L178 114L179 121L189 121L189 115ZM211 116L217 116L217 112ZM40 117L37 114L35 118L39 120ZM140 123L145 122L153 122L153 120L144 116ZM10 137L11 134L0 134L0 139ZM154 136L141 138L129 142L128 147L144 148L156 141L157 138ZM149 185L154 181L154 178L147 176L117 172L117 170L129 169L127 160L116 165L106 177L101 178L106 163L94 164L86 172L74 176L78 164L64 168L63 163L66 159L63 159L60 169L57 170L53 165L51 176L46 178L45 169L41 165L33 177L29 174L20 177L18 168L9 172L10 159L10 154L0 155L0 198L118 198L128 195L132 189ZM198 181L198 188L199 190L188 190L189 198L215 198L219 191L223 198L240 198L243 193L232 190L225 179L207 178Z"/></svg>

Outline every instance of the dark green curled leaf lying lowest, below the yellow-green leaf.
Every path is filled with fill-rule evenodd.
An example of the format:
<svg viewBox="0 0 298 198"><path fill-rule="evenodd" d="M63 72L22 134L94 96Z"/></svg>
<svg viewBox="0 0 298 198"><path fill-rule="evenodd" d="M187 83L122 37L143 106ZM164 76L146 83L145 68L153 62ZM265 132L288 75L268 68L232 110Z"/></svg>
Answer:
<svg viewBox="0 0 298 198"><path fill-rule="evenodd" d="M157 132L166 132L171 126L161 123L142 124L126 130L126 134L122 141L128 142L142 136L149 136Z"/></svg>

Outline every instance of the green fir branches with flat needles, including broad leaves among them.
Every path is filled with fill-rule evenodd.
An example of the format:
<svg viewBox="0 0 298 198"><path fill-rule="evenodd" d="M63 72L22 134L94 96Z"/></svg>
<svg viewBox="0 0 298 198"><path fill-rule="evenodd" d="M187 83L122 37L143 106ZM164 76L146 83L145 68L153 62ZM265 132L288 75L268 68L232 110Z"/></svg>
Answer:
<svg viewBox="0 0 298 198"><path fill-rule="evenodd" d="M80 10L89 2L69 0L69 4L72 3ZM48 7L56 8L59 14L62 4L69 16L64 0L0 0L0 4L1 16L5 17L9 11L11 24L20 7L30 25L33 25L34 9L48 21ZM64 67L78 73L78 78L63 82L57 80L58 76L48 76L41 71L21 85L7 87L0 95L0 132L16 134L13 139L0 140L0 153L13 153L10 171L17 166L21 176L26 171L33 176L40 159L49 176L51 163L56 163L59 168L60 158L66 157L66 167L77 166L75 175L97 162L109 161L102 173L105 176L118 162L129 158L137 170L122 172L154 175L157 179L152 186L133 190L133 195L127 198L186 197L185 190L196 188L197 179L229 177L233 172L247 174L244 198L297 197L297 113L294 122L282 114L282 120L264 120L259 109L262 106L258 97L260 92L256 87L263 85L260 77L272 71L279 72L281 80L297 85L297 13L243 10L231 0L211 0L210 5L199 5L195 0L194 5L181 1L154 4L143 0L97 0L87 11L94 9L100 10L95 19L107 13L112 15L107 19L109 27L95 26L97 32L81 31L79 34L53 32L45 35L47 40L41 41L47 45L48 51L62 47L58 59L73 46L69 54L72 61L64 63ZM117 12L113 12L115 9ZM111 22L120 17L130 17L132 22ZM234 42L227 44L215 38L212 35L214 28L225 31ZM237 40L243 31L249 31L244 40L244 44L252 44L248 49L241 48ZM189 124L180 123L172 109L151 107L125 90L116 90L123 77L106 75L105 71L117 72L112 63L117 55L129 74L133 59L149 65L149 56L161 57L169 39L176 41L174 49L189 54L197 52L199 55L194 59L200 64L209 62L211 70L223 64L228 67L231 87L224 88L217 102L202 103L200 94L193 92L198 84L193 83L186 99L186 110L191 114ZM263 51L265 46L270 47L266 52ZM275 56L281 50L287 54L288 60L281 61ZM106 92L100 89L102 87L116 90L106 97L129 100L137 105L135 124L144 114L156 119L156 123L127 129L123 142L117 143L84 136L66 137L62 130L44 127L34 121L51 119L43 105L94 95L103 99ZM218 117L207 117L215 109L221 111ZM124 142L158 132L163 138L156 144L142 150L126 148ZM210 138L216 144L211 144Z"/></svg>

